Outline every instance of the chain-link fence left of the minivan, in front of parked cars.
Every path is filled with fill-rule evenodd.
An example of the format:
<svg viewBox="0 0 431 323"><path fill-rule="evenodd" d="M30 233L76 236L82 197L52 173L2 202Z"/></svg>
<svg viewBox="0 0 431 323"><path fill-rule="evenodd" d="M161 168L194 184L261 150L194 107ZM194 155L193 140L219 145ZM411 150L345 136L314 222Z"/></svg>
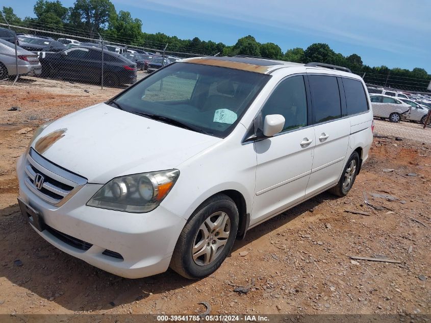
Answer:
<svg viewBox="0 0 431 323"><path fill-rule="evenodd" d="M3 27L11 39L0 39L0 82L19 76L18 82L33 77L97 84L102 89L125 87L181 59L209 56L169 51L168 44L125 45L100 35L90 38L0 23Z"/></svg>

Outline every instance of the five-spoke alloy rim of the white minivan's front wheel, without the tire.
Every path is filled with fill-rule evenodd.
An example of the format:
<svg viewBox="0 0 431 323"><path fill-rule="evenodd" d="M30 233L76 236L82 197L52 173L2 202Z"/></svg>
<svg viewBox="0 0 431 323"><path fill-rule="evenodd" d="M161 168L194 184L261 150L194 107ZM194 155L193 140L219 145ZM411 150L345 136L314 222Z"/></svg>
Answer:
<svg viewBox="0 0 431 323"><path fill-rule="evenodd" d="M231 220L222 211L211 214L200 225L193 240L193 261L199 266L212 263L220 255L231 233Z"/></svg>

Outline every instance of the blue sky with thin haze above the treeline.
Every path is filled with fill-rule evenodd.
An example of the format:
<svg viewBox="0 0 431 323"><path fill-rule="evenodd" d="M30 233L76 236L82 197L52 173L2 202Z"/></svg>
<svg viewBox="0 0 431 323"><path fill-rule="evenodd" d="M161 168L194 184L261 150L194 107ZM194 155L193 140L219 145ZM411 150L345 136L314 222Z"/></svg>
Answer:
<svg viewBox="0 0 431 323"><path fill-rule="evenodd" d="M19 17L34 16L36 0L0 0ZM73 0L61 0L70 7ZM115 9L142 20L142 31L182 39L199 37L233 45L252 35L283 52L327 43L364 64L390 68L422 67L431 73L429 0L111 0Z"/></svg>

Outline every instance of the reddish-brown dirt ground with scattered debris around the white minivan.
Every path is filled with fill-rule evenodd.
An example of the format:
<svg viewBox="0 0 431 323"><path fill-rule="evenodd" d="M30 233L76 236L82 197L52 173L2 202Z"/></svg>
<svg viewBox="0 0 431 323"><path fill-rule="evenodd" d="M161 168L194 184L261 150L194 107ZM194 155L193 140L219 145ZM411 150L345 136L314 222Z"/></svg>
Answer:
<svg viewBox="0 0 431 323"><path fill-rule="evenodd" d="M322 193L251 229L210 277L189 281L168 270L130 280L44 241L16 201L15 162L33 128L119 90L57 81L18 85L0 83L0 314L196 314L205 311L201 301L212 314L431 313L431 147L423 139L431 138L430 128L376 120L376 133L389 137L374 138L346 197ZM7 111L13 106L20 110ZM396 141L388 133L403 127L418 135ZM234 291L252 281L248 293Z"/></svg>

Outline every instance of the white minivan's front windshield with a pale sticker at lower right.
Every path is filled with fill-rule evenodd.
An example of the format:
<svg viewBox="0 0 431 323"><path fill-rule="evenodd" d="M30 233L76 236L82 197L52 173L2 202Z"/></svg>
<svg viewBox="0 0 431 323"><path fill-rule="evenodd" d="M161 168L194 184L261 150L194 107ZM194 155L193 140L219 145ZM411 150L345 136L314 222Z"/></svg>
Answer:
<svg viewBox="0 0 431 323"><path fill-rule="evenodd" d="M173 63L114 101L125 111L173 119L193 130L224 138L269 78L225 67Z"/></svg>

